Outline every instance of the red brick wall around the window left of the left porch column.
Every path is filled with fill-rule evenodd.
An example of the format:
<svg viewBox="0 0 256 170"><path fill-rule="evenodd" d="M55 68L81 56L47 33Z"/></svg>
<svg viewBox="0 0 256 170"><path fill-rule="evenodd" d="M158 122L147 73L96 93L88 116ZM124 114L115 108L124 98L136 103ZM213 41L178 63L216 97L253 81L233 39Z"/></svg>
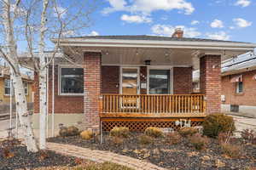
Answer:
<svg viewBox="0 0 256 170"><path fill-rule="evenodd" d="M34 113L39 113L38 74L35 73ZM84 113L83 96L58 94L58 65L55 65L55 113ZM52 66L49 65L49 113L52 110Z"/></svg>

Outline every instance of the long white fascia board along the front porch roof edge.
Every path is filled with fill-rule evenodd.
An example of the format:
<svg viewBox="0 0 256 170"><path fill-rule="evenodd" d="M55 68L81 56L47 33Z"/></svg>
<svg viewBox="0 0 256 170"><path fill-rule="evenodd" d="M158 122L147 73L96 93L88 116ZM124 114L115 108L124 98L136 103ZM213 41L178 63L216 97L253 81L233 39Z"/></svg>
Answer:
<svg viewBox="0 0 256 170"><path fill-rule="evenodd" d="M53 40L55 42L55 40ZM119 48L198 48L253 50L256 44L244 42L189 42L189 41L150 41L150 40L106 40L106 39L63 39L61 46L80 47L119 47Z"/></svg>

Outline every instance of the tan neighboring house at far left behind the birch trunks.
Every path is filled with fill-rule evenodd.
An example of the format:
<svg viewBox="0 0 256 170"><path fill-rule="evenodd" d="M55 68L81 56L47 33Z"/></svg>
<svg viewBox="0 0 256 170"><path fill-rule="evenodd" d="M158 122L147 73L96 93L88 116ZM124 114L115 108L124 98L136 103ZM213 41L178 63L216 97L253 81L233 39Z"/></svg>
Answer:
<svg viewBox="0 0 256 170"><path fill-rule="evenodd" d="M33 79L28 75L22 74L22 79L25 88L26 101L29 105L29 108L32 110L33 103ZM10 71L9 67L0 66L0 113L8 113L9 112L9 104L10 104ZM14 92L13 92L14 95ZM15 96L12 98L13 105L15 108Z"/></svg>

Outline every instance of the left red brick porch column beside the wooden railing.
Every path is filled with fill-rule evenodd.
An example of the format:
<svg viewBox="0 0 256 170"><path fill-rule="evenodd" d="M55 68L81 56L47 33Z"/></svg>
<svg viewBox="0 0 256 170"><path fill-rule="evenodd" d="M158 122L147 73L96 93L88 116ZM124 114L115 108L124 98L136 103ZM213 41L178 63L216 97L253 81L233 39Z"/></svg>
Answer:
<svg viewBox="0 0 256 170"><path fill-rule="evenodd" d="M102 54L84 53L84 125L100 127L99 99L101 95Z"/></svg>

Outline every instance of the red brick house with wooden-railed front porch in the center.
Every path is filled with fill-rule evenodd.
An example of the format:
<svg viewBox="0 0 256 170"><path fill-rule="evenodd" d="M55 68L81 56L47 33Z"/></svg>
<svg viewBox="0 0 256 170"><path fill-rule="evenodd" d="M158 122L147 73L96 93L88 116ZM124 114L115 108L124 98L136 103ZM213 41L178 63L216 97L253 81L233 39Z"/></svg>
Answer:
<svg viewBox="0 0 256 170"><path fill-rule="evenodd" d="M182 35L177 30L172 37L61 39L63 56L49 66L48 108L49 114L55 114L55 126L177 128L181 122L198 125L207 114L219 112L221 61L256 45ZM197 69L201 93L192 94L192 71ZM34 124L38 121L38 95L37 89Z"/></svg>

